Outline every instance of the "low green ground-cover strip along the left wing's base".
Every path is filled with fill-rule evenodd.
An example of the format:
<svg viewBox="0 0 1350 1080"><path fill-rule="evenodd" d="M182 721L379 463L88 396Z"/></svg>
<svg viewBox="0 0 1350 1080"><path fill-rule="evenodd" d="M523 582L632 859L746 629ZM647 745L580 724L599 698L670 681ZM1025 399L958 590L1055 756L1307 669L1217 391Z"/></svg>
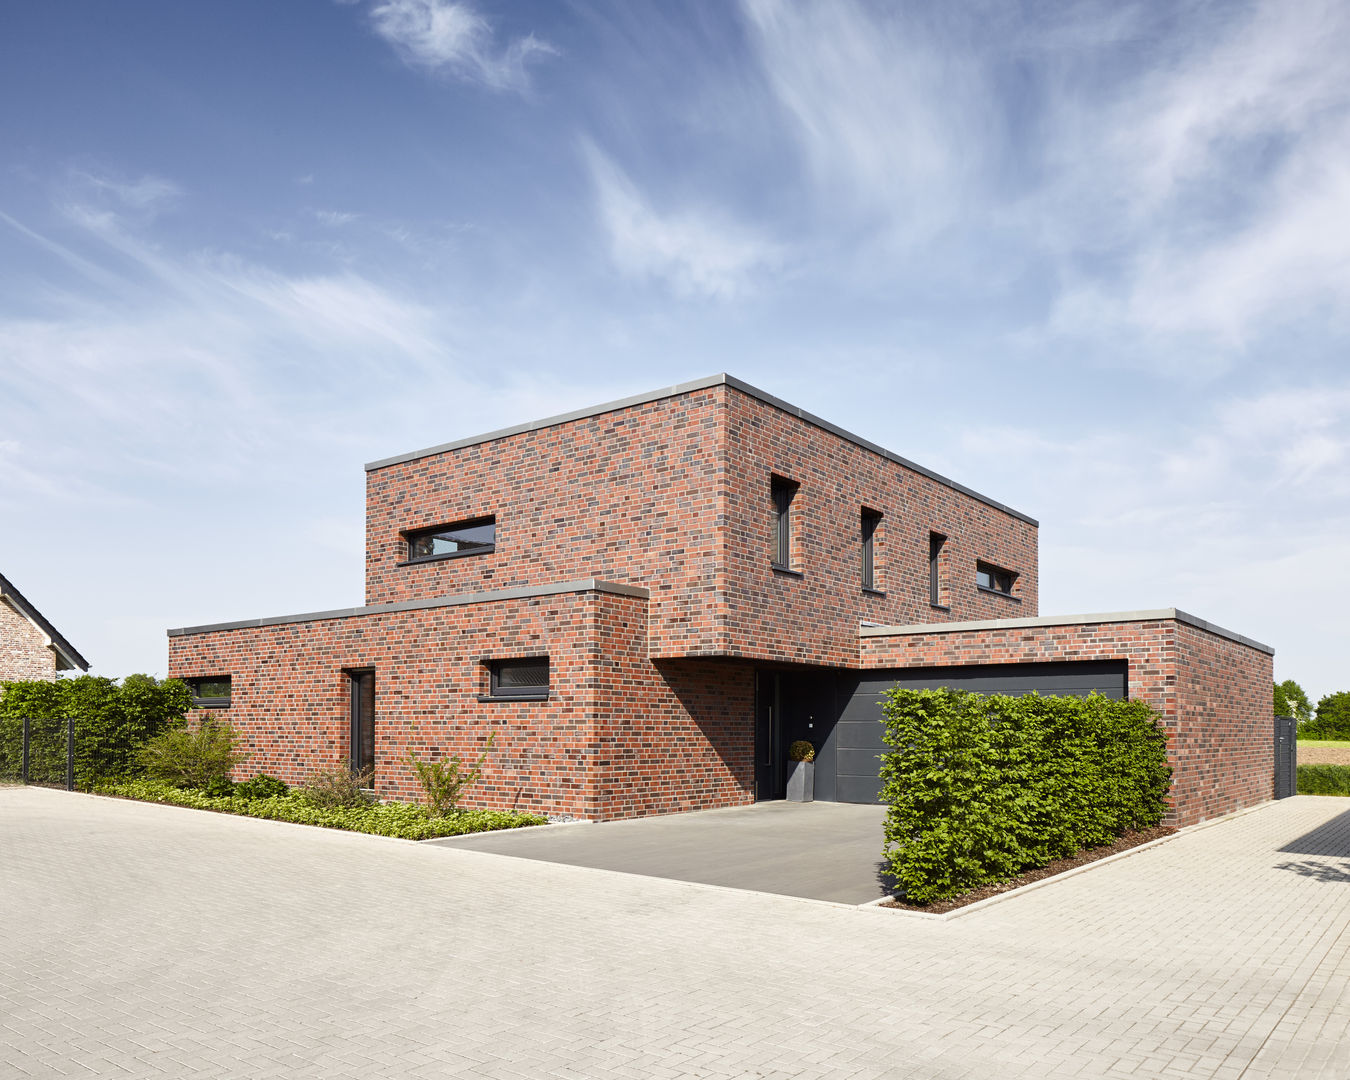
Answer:
<svg viewBox="0 0 1350 1080"><path fill-rule="evenodd" d="M188 806L193 810L216 810L250 818L290 821L297 825L319 825L325 829L347 829L355 833L393 836L402 840L431 840L437 836L463 836L497 829L520 829L525 825L544 825L547 818L520 814L513 810L456 810L447 817L431 817L425 807L413 803L386 806L317 807L298 794L248 799L242 795L208 795L193 788L174 787L158 780L103 780L94 786L99 795L119 795L124 799L161 802ZM238 790L238 788L236 788Z"/></svg>

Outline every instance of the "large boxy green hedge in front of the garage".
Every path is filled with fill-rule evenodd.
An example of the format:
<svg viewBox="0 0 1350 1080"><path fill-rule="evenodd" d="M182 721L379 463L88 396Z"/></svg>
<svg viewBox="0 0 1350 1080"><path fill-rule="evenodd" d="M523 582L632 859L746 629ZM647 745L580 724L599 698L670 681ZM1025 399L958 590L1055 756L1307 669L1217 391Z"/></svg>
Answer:
<svg viewBox="0 0 1350 1080"><path fill-rule="evenodd" d="M945 899L1162 821L1172 770L1143 702L887 691L886 850L915 903Z"/></svg>

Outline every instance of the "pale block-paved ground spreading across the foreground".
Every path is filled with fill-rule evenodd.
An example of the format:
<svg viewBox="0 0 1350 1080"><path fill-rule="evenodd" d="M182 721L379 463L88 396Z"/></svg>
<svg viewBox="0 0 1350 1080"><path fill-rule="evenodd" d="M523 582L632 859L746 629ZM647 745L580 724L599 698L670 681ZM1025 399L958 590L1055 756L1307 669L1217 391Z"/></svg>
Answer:
<svg viewBox="0 0 1350 1080"><path fill-rule="evenodd" d="M1350 1075L1350 802L950 922L0 790L0 1076Z"/></svg>

